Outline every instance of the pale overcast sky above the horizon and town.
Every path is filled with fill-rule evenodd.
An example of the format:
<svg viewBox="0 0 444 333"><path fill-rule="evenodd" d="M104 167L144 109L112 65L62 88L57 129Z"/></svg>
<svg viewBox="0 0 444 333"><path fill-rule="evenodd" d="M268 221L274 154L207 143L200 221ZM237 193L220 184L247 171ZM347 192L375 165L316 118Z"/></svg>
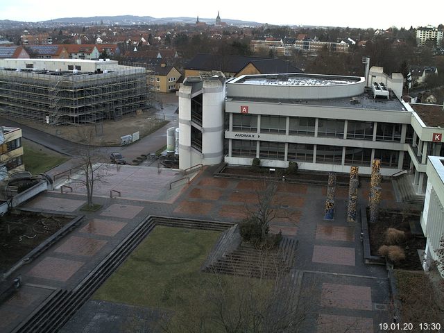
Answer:
<svg viewBox="0 0 444 333"><path fill-rule="evenodd" d="M432 0L427 11L413 1L98 1L98 0L0 0L0 19L44 21L62 17L138 15L152 17L205 17L244 19L268 24L350 26L438 26L444 23L442 0ZM266 3L263 5L262 3Z"/></svg>

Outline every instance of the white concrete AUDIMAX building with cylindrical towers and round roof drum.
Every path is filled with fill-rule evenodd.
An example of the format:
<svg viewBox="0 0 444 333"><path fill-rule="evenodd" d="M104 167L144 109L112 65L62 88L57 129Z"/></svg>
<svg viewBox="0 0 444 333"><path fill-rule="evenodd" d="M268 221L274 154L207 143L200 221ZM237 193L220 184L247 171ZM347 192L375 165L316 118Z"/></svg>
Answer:
<svg viewBox="0 0 444 333"><path fill-rule="evenodd" d="M411 173L423 194L427 156L444 155L444 112L400 101L402 81L377 67L370 87L364 77L318 74L246 75L225 85L188 78L179 91L180 169L223 155L228 164L251 165L257 157L264 167L296 161L305 170L348 173L356 165L370 174L379 158L383 176Z"/></svg>

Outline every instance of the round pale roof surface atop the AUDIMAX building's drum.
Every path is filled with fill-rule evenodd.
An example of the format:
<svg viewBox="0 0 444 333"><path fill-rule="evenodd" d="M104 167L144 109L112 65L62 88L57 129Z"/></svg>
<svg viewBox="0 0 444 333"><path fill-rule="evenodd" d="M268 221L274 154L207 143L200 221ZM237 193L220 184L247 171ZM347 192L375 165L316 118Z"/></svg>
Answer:
<svg viewBox="0 0 444 333"><path fill-rule="evenodd" d="M244 75L230 83L242 83L247 85L282 85L282 86L325 86L325 85L348 85L360 82L359 76L337 76L323 74L266 74L266 75Z"/></svg>

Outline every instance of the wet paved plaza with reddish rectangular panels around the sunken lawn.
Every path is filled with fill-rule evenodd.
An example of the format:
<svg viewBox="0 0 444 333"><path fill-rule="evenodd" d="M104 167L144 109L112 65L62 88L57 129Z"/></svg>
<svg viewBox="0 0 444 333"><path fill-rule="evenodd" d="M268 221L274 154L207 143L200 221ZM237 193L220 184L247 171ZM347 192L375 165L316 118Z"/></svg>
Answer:
<svg viewBox="0 0 444 333"><path fill-rule="evenodd" d="M175 216L214 221L240 221L255 208L257 191L264 189L260 180L214 178L214 167L200 171L191 183L169 189L169 183L182 177L177 171L143 167L117 169L110 182L97 188L98 212L80 212L85 203L81 187L73 193L46 191L22 208L69 214L86 214L83 223L40 257L17 271L24 287L0 306L1 332L10 332L23 321L53 290L74 288L134 228L149 215ZM168 185L168 187L167 187ZM118 189L120 198L110 198ZM384 205L396 205L390 183L383 184ZM169 193L171 191L171 193ZM364 264L361 226L345 219L347 189L336 191L334 221L323 219L325 187L280 182L273 197L276 217L271 232L282 231L298 239L296 269L300 271L300 302L309 305L307 327L303 332L377 332L378 324L388 322L390 303L384 266ZM368 200L364 180L359 200ZM149 236L148 236L149 237ZM96 309L89 300L62 332L112 332L108 319L117 305L103 309L108 327L101 329L97 316L86 309ZM304 304L305 304L304 303ZM118 311L118 310L117 310ZM130 311L128 307L124 311ZM137 309L139 311L139 309ZM80 316L80 317L79 317ZM83 317L82 317L83 316ZM119 318L120 319L119 319ZM117 326L116 326L117 327ZM118 332L118 331L115 331Z"/></svg>

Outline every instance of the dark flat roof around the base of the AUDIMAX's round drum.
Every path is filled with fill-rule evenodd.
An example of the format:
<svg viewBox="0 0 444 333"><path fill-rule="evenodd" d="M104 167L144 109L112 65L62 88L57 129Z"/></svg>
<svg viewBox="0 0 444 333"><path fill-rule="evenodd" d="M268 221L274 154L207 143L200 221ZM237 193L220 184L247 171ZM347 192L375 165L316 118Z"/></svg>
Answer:
<svg viewBox="0 0 444 333"><path fill-rule="evenodd" d="M295 105L325 105L335 108L354 108L363 110L391 110L399 112L409 112L398 99L373 99L371 89L366 88L364 94L337 99L261 99L255 97L230 97L230 101L251 101L264 103L282 103Z"/></svg>

